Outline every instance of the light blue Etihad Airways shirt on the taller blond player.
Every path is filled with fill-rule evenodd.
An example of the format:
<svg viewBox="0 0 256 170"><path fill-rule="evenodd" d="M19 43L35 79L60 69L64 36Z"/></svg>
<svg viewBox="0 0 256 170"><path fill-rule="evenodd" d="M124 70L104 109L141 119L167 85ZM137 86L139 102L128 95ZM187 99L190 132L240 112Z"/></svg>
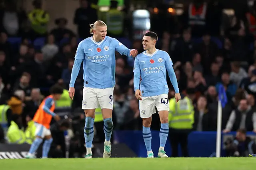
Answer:
<svg viewBox="0 0 256 170"><path fill-rule="evenodd" d="M84 87L105 89L116 84L116 55L130 55L130 49L115 38L106 36L101 42L95 42L92 37L78 44L75 61L71 73L70 87L74 87L80 65L83 61Z"/></svg>

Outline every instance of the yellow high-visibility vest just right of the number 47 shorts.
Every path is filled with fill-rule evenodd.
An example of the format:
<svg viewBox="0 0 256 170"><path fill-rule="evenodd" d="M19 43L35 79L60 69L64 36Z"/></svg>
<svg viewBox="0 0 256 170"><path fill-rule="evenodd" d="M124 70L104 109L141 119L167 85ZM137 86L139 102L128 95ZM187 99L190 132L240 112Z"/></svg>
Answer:
<svg viewBox="0 0 256 170"><path fill-rule="evenodd" d="M178 103L175 98L170 99L169 127L175 129L192 129L194 123L194 107L188 97Z"/></svg>

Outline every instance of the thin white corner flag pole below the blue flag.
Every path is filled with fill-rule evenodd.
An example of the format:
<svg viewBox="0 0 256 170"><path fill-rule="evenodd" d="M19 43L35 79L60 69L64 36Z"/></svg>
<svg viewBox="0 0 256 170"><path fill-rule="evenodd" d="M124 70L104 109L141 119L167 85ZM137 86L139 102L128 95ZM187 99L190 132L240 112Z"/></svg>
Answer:
<svg viewBox="0 0 256 170"><path fill-rule="evenodd" d="M218 118L217 118L217 138L216 138L216 157L220 158L221 148L221 123L222 123L222 105L220 99L218 100Z"/></svg>

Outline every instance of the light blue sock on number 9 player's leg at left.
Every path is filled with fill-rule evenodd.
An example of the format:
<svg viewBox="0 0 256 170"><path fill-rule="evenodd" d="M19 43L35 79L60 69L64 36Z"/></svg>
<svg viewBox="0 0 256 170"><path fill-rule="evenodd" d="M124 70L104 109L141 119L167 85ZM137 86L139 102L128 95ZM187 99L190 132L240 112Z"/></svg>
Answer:
<svg viewBox="0 0 256 170"><path fill-rule="evenodd" d="M92 147L92 140L93 140L93 136L94 136L93 124L94 124L93 118L91 118L91 117L85 118L84 139L85 139L86 148Z"/></svg>

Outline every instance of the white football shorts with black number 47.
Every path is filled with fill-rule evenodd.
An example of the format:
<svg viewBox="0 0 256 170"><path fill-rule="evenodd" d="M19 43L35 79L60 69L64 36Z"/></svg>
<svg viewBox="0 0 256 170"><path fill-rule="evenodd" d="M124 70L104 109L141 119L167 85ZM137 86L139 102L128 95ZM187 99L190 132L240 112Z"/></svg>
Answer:
<svg viewBox="0 0 256 170"><path fill-rule="evenodd" d="M149 118L157 111L169 111L169 100L167 94L158 96L142 97L142 101L139 101L140 117ZM155 109L156 107L156 109Z"/></svg>

